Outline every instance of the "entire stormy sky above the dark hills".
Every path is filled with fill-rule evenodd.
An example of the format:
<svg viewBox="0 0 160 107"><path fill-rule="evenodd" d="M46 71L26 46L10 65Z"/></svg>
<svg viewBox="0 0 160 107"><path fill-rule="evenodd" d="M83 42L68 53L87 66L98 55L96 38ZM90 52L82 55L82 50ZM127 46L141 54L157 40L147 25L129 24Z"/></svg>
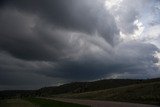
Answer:
<svg viewBox="0 0 160 107"><path fill-rule="evenodd" d="M0 90L158 77L159 0L0 1Z"/></svg>

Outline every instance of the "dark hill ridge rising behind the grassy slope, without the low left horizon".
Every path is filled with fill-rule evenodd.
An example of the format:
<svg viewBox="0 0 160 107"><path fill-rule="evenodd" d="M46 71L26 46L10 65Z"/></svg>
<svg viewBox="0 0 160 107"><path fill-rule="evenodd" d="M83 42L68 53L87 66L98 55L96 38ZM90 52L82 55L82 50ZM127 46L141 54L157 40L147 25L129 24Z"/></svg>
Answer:
<svg viewBox="0 0 160 107"><path fill-rule="evenodd" d="M152 83L160 81L157 79L146 79L146 80L138 80L138 79L106 79L99 80L93 82L73 82L69 84L64 84L57 87L44 87L37 90L37 95L39 96L50 96L57 95L63 93L83 93L83 92L91 92L97 90L111 89L122 86L128 86L133 84L141 84L141 83Z"/></svg>

